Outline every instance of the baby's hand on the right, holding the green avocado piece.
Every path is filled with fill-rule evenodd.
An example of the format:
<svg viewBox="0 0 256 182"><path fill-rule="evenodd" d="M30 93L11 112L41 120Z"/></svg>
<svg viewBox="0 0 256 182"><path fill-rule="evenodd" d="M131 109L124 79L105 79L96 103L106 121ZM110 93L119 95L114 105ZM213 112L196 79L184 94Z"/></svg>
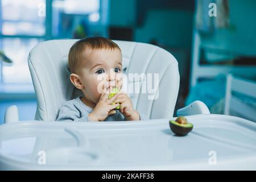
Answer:
<svg viewBox="0 0 256 182"><path fill-rule="evenodd" d="M117 98L113 101L120 104L119 111L125 116L127 120L139 120L139 113L134 110L133 103L124 92L119 92Z"/></svg>

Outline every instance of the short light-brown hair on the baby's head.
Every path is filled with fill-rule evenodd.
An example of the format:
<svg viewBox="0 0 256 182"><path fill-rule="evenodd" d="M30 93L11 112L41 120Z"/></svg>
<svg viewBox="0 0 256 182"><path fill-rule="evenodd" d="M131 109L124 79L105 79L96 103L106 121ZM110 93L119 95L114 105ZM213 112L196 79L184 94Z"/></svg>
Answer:
<svg viewBox="0 0 256 182"><path fill-rule="evenodd" d="M88 49L92 52L96 49L119 49L121 51L116 43L102 36L80 39L69 49L68 65L71 73L76 73L81 67L82 60L86 59L85 51Z"/></svg>

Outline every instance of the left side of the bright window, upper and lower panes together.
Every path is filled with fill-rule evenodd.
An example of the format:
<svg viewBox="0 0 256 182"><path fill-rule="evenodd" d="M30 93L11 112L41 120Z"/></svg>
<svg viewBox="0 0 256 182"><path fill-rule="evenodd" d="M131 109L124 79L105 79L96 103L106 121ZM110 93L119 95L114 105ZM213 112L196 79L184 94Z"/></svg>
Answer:
<svg viewBox="0 0 256 182"><path fill-rule="evenodd" d="M1 62L1 84L31 83L27 57L46 35L45 0L0 0L0 50L12 61Z"/></svg>

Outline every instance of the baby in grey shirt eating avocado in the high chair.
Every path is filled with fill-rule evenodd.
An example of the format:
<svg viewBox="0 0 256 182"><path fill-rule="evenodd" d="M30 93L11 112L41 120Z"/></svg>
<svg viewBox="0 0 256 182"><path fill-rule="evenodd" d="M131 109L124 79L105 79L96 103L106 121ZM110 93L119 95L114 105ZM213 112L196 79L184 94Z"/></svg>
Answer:
<svg viewBox="0 0 256 182"><path fill-rule="evenodd" d="M57 121L141 120L126 93L109 98L113 88L122 88L122 53L112 40L95 36L77 41L69 50L68 64L70 80L83 97L65 102Z"/></svg>

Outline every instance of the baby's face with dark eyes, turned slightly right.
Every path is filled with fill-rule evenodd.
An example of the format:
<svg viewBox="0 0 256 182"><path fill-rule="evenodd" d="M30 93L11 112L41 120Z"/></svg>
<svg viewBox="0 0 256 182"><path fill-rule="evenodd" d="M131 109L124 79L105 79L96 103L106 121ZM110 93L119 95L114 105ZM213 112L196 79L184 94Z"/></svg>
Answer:
<svg viewBox="0 0 256 182"><path fill-rule="evenodd" d="M122 88L122 53L119 49L94 50L84 61L80 81L85 97L97 104L101 92L110 86Z"/></svg>

